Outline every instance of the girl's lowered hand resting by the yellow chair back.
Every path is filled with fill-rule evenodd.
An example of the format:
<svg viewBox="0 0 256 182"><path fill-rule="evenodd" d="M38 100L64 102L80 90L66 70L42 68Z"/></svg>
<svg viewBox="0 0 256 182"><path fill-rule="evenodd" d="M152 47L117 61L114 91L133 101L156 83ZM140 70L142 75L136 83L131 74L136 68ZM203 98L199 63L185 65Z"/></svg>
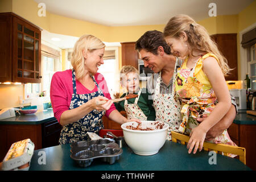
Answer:
<svg viewBox="0 0 256 182"><path fill-rule="evenodd" d="M188 148L188 154L190 154L194 148L193 154L196 154L197 148L199 147L199 151L203 149L204 139L206 135L206 131L203 130L200 125L195 127L195 129L192 129L191 134L189 137L191 137L188 140L187 148Z"/></svg>

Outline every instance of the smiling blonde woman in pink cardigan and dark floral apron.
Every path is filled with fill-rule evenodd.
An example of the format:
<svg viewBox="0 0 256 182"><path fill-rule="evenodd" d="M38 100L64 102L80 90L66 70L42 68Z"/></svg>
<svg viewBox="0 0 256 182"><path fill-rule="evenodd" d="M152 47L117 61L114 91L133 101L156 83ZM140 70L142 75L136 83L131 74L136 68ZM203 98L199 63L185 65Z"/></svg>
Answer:
<svg viewBox="0 0 256 182"><path fill-rule="evenodd" d="M88 140L87 132L103 129L102 116L118 123L127 122L110 100L104 77L97 73L104 64L105 44L93 35L77 40L71 64L73 69L56 72L51 81L53 113L60 125L60 144ZM105 104L99 104L107 101ZM133 119L138 121L138 119ZM139 122L139 121L138 121Z"/></svg>

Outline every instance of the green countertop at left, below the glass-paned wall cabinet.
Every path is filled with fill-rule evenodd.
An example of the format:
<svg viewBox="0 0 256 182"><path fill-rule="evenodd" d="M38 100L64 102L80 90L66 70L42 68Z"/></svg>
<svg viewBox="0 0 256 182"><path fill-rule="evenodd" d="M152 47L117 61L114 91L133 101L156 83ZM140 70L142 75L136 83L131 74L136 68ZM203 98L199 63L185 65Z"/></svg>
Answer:
<svg viewBox="0 0 256 182"><path fill-rule="evenodd" d="M13 118L0 120L0 125L39 125L55 119L52 109L36 112L35 114L22 114Z"/></svg>

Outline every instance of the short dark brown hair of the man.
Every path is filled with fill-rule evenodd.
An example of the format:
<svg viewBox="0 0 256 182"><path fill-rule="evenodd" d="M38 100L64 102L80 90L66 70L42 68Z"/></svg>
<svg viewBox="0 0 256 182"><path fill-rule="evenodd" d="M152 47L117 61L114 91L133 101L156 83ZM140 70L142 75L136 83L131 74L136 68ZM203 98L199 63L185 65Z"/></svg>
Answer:
<svg viewBox="0 0 256 182"><path fill-rule="evenodd" d="M141 51L145 49L148 52L158 55L158 47L162 46L164 52L168 55L171 54L171 48L166 43L166 40L163 38L163 32L152 30L145 32L135 44L135 49Z"/></svg>

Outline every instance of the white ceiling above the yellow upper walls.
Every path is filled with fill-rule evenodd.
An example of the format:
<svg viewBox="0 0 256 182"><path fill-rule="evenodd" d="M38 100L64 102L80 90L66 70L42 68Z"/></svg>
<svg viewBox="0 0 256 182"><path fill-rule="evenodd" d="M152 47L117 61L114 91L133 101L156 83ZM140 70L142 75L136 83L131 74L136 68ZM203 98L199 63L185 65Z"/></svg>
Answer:
<svg viewBox="0 0 256 182"><path fill-rule="evenodd" d="M105 26L166 24L171 16L187 14L195 20L209 18L209 3L217 15L238 14L253 0L34 0L50 13Z"/></svg>

